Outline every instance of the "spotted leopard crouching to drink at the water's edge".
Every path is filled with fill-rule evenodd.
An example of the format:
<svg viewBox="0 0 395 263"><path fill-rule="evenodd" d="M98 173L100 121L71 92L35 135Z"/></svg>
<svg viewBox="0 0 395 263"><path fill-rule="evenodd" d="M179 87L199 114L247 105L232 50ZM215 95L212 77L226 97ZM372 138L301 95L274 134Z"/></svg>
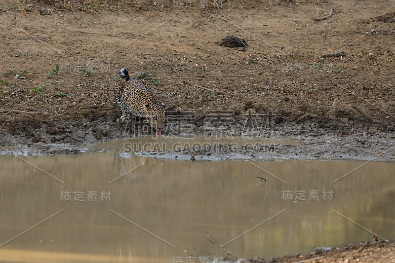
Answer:
<svg viewBox="0 0 395 263"><path fill-rule="evenodd" d="M125 68L120 69L119 76L125 79L119 79L114 86L115 99L122 112L119 119L130 121L131 115L145 118L156 130L156 135L161 135L166 105L158 102L144 79L130 78Z"/></svg>

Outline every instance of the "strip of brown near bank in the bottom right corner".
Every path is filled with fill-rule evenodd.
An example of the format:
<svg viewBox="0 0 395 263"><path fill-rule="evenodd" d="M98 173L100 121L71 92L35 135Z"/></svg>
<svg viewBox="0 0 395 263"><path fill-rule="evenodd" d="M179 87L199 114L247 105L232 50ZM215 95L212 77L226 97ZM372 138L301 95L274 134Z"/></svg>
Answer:
<svg viewBox="0 0 395 263"><path fill-rule="evenodd" d="M227 259L228 263L389 263L395 262L394 240L369 241L359 244L346 244L341 247L325 248L318 247L310 253L298 253L292 256L263 259Z"/></svg>

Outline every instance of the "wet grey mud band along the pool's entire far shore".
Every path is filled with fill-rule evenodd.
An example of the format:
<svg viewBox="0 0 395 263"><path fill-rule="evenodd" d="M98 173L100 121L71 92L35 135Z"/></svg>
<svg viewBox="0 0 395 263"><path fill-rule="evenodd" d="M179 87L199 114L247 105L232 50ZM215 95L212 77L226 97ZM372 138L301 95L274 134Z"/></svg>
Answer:
<svg viewBox="0 0 395 263"><path fill-rule="evenodd" d="M247 123L247 124L246 124ZM134 154L158 158L189 160L225 159L321 159L321 160L377 160L393 161L395 158L395 135L372 126L363 127L343 122L317 123L271 123L263 127L248 126L248 120L234 121L232 128L212 122L199 126L169 123L162 139L167 136L215 136L227 138L226 144L174 145L171 150L150 151L141 149ZM43 123L37 129L30 128L18 135L0 132L0 154L51 155L79 154L86 149L84 144L105 142L124 137L154 136L151 128L142 122L122 123L117 121L62 120ZM298 139L298 145L246 144L236 145L232 138ZM394 150L394 151L393 151Z"/></svg>

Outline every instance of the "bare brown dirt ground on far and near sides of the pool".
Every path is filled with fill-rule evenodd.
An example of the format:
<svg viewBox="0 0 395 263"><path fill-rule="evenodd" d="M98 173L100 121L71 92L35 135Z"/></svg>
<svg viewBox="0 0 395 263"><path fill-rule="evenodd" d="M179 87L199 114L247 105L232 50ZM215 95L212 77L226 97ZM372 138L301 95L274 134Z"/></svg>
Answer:
<svg viewBox="0 0 395 263"><path fill-rule="evenodd" d="M292 137L305 142L287 156L283 150L296 146L276 147L286 158L394 161L395 6L386 0L229 0L220 9L196 1L99 12L2 4L0 145L22 146L2 154L78 154L82 143L150 133L117 121L113 85L125 67L166 103L163 135ZM312 20L331 8L326 20ZM215 43L226 36L248 48ZM325 56L335 52L341 56ZM354 255L394 262L380 260L392 249L383 246ZM358 261L350 257L316 262Z"/></svg>

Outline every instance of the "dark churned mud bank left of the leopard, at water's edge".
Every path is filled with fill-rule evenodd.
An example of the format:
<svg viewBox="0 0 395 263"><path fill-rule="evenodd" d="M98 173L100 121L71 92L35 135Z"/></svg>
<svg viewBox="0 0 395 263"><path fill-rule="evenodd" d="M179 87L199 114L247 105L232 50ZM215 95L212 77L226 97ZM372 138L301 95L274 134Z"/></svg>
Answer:
<svg viewBox="0 0 395 263"><path fill-rule="evenodd" d="M114 126L110 122L72 119L41 123L38 128L27 125L13 133L2 131L0 155L80 154L87 150L83 144L121 137Z"/></svg>

